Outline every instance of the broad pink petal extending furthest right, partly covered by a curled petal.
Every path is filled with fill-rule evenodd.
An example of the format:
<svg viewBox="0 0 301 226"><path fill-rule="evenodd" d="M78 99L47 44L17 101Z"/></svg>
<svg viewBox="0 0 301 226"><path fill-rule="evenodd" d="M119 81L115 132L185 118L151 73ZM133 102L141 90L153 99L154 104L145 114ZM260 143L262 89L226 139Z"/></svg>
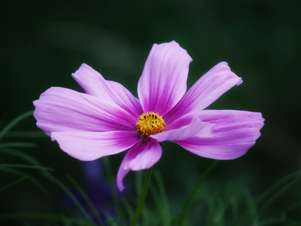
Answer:
<svg viewBox="0 0 301 226"><path fill-rule="evenodd" d="M211 159L235 159L244 155L260 137L261 113L234 110L203 110L199 117L215 123L213 138L192 137L175 141L188 151Z"/></svg>

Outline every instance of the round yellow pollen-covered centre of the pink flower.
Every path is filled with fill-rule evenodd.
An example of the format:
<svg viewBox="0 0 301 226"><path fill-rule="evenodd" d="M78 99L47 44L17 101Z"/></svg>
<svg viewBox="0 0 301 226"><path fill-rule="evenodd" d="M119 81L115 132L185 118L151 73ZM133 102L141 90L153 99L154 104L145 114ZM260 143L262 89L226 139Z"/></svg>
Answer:
<svg viewBox="0 0 301 226"><path fill-rule="evenodd" d="M147 138L149 135L157 134L163 132L166 128L166 124L162 119L162 116L159 116L158 113L147 112L142 114L138 118L137 132L144 138Z"/></svg>

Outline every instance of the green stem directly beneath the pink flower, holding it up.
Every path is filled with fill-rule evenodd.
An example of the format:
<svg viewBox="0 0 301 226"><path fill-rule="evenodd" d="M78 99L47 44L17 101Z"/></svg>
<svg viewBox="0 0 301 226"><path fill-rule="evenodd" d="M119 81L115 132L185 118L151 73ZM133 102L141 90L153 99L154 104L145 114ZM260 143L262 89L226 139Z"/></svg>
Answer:
<svg viewBox="0 0 301 226"><path fill-rule="evenodd" d="M137 208L135 210L135 213L134 213L134 216L132 218L130 226L135 226L138 222L139 217L140 217L140 214L141 214L141 211L142 211L142 208L143 208L143 205L144 205L144 201L145 201L145 198L146 198L146 194L147 194L147 191L148 191L148 187L150 185L152 170L153 170L153 167L146 170L146 175L145 175L141 195L140 195L138 205L137 205Z"/></svg>

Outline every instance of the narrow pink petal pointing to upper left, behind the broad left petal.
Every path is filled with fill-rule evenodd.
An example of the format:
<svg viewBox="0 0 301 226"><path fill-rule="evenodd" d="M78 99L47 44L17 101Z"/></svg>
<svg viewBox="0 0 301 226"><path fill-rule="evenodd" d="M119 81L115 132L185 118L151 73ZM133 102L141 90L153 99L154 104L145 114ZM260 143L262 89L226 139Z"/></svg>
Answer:
<svg viewBox="0 0 301 226"><path fill-rule="evenodd" d="M72 77L87 94L113 102L131 115L135 115L135 118L141 115L141 104L129 90L118 82L105 80L87 64L83 63Z"/></svg>

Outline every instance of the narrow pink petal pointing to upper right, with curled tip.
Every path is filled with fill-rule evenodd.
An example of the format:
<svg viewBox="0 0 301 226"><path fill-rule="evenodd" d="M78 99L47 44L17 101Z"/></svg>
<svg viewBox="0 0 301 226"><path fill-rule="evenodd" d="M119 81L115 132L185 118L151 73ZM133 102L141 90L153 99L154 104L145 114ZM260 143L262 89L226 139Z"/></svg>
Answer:
<svg viewBox="0 0 301 226"><path fill-rule="evenodd" d="M184 115L190 115L208 107L234 85L240 85L241 78L231 72L228 63L221 62L204 74L169 111L166 122L172 122Z"/></svg>

